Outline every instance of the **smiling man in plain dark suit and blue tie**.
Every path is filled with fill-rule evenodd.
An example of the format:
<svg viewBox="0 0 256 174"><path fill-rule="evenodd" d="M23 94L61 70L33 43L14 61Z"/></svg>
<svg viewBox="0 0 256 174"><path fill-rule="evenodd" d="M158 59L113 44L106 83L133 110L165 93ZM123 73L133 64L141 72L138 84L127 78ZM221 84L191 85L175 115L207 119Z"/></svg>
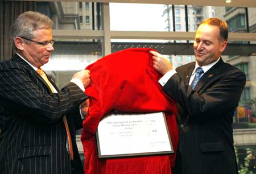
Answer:
<svg viewBox="0 0 256 174"><path fill-rule="evenodd" d="M181 108L179 150L172 173L238 173L232 122L246 76L222 61L227 40L226 22L209 18L196 31L196 62L175 71L164 56L151 52L154 69L164 75L159 83Z"/></svg>

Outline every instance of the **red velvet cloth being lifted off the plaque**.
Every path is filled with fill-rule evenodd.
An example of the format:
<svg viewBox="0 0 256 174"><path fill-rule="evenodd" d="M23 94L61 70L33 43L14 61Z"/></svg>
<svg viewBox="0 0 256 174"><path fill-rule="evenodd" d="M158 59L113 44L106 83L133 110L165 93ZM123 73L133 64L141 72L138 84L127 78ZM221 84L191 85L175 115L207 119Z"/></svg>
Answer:
<svg viewBox="0 0 256 174"><path fill-rule="evenodd" d="M98 159L95 132L98 123L112 110L150 113L164 111L172 145L176 152L177 105L158 83L152 68L150 48L130 48L112 53L90 64L89 110L81 135L86 174L170 174L175 155Z"/></svg>

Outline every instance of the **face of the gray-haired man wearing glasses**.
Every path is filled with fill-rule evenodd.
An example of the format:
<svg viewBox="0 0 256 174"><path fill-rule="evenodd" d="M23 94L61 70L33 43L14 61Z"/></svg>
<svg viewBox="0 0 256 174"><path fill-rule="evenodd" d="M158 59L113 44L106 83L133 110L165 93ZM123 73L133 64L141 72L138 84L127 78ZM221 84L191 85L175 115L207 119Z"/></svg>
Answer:
<svg viewBox="0 0 256 174"><path fill-rule="evenodd" d="M36 30L34 35L35 37L32 40L37 42L49 42L52 40L51 28ZM22 55L35 67L41 67L48 63L53 50L54 48L51 44L40 45L36 42L30 42L30 44L23 43Z"/></svg>

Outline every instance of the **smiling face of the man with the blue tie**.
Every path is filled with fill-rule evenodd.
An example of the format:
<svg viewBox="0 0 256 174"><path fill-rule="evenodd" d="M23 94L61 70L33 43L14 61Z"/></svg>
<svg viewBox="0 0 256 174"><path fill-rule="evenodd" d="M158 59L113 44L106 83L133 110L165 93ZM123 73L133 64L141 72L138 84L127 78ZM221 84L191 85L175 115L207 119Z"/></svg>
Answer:
<svg viewBox="0 0 256 174"><path fill-rule="evenodd" d="M218 60L226 48L226 41L218 40L220 29L217 26L201 24L196 31L194 52L200 66L208 65Z"/></svg>

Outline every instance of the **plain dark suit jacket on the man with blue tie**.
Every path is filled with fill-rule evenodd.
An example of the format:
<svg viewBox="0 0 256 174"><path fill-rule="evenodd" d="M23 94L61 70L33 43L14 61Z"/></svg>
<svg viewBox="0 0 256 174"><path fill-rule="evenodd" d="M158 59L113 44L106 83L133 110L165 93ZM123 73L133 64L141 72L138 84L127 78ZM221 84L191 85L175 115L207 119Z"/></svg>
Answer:
<svg viewBox="0 0 256 174"><path fill-rule="evenodd" d="M180 151L183 174L234 174L233 115L245 86L240 69L220 59L197 83L188 85L195 62L176 69L163 86L179 103Z"/></svg>

